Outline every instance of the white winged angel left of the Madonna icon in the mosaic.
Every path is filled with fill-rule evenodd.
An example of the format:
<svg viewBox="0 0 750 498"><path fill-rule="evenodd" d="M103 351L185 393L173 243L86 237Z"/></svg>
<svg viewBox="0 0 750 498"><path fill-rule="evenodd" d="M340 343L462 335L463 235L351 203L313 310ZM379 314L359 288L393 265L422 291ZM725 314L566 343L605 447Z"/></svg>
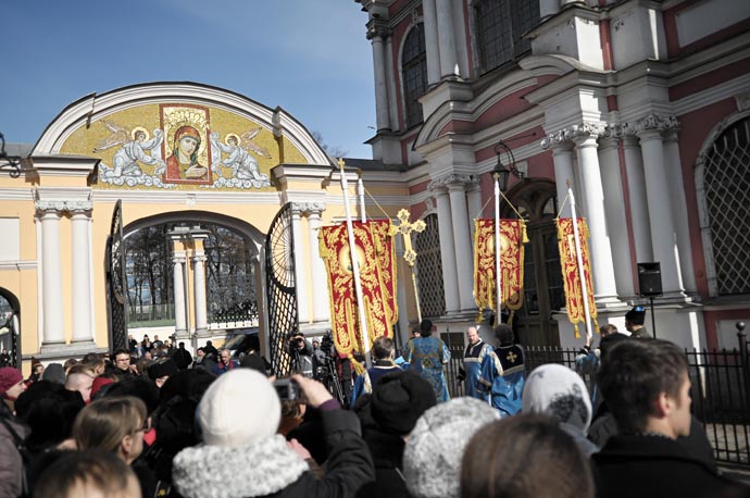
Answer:
<svg viewBox="0 0 750 498"><path fill-rule="evenodd" d="M115 178L121 176L140 176L143 172L138 163L155 165L155 174L164 170L164 161L160 158L159 146L164 139L164 132L153 130L153 138L149 139L148 132L142 126L133 129L121 126L112 121L101 120L101 123L111 132L111 135L102 139L93 149L95 152L103 152L115 146L122 146L112 158L113 167L104 170L104 177ZM146 151L155 151L152 155Z"/></svg>

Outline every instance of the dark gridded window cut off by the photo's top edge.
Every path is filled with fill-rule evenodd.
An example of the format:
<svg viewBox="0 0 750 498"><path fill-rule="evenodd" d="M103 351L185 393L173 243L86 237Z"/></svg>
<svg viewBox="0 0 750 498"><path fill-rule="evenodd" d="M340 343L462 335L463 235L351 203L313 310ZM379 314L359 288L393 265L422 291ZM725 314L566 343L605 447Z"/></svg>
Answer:
<svg viewBox="0 0 750 498"><path fill-rule="evenodd" d="M532 49L521 35L539 23L539 2L476 0L474 20L479 70L486 73Z"/></svg>

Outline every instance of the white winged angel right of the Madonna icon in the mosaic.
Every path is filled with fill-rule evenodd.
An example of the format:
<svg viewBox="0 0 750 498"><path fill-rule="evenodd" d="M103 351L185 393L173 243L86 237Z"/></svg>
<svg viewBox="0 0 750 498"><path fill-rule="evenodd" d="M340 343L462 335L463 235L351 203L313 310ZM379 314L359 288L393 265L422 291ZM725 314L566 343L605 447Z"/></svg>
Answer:
<svg viewBox="0 0 750 498"><path fill-rule="evenodd" d="M253 140L260 130L260 127L249 129L240 136L234 133L227 134L224 138L225 144L218 140L217 133L211 133L209 139L213 150L216 151L211 170L218 173L218 166L232 167L235 178L266 179L265 175L261 175L258 169L258 160L248 151L250 150L262 158L271 158L268 151ZM229 155L222 159L222 152Z"/></svg>

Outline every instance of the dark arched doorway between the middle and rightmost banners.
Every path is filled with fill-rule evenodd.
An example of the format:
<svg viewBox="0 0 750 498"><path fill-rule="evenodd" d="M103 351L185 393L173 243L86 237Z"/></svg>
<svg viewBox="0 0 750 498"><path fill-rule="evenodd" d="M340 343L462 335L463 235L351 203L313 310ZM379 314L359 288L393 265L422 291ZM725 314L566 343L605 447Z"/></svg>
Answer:
<svg viewBox="0 0 750 498"><path fill-rule="evenodd" d="M526 221L528 244L524 247L524 302L515 318L518 338L524 345L560 346L560 334L552 312L565 306L558 231L554 183L546 179L528 180L508 192L518 214ZM504 206L502 217L517 219L513 209Z"/></svg>

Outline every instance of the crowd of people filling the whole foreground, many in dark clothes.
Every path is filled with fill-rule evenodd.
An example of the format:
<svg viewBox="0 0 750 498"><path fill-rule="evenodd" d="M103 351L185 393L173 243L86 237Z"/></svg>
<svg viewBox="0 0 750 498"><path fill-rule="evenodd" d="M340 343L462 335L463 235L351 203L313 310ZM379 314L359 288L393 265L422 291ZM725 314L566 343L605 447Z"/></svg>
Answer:
<svg viewBox="0 0 750 498"><path fill-rule="evenodd" d="M468 327L467 396L449 399L433 332L421 324L399 361L378 338L343 403L297 334L288 351L311 359L298 389L257 352L192 358L158 336L29 378L0 368L0 497L750 496L717 471L674 344L604 329L577 358L592 399L566 366L527 374L507 325L493 345Z"/></svg>

